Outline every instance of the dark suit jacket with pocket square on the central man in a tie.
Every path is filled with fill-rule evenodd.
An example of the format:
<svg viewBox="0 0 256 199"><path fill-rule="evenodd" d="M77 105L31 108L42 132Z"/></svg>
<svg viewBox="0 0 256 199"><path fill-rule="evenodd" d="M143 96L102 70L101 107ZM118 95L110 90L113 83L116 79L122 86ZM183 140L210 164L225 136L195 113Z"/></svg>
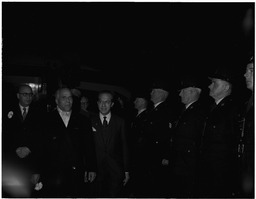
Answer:
<svg viewBox="0 0 256 199"><path fill-rule="evenodd" d="M107 172L112 177L123 179L124 172L129 170L125 121L112 113L108 126L104 128L99 115L94 115L92 129L99 174Z"/></svg>

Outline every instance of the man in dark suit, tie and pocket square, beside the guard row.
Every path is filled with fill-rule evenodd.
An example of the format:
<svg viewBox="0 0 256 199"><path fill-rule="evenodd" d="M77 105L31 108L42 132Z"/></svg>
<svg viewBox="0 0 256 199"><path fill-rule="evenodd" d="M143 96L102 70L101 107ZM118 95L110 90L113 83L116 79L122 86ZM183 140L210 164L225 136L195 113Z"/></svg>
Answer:
<svg viewBox="0 0 256 199"><path fill-rule="evenodd" d="M97 197L121 197L129 180L125 121L111 112L113 94L98 95L99 114L92 117L98 162Z"/></svg>

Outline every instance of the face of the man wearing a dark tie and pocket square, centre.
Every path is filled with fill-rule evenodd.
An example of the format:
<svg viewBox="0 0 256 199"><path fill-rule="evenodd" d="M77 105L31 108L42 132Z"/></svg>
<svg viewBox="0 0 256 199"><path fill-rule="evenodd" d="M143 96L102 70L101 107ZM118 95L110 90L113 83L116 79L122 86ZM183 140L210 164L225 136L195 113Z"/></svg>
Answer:
<svg viewBox="0 0 256 199"><path fill-rule="evenodd" d="M109 93L102 93L99 96L97 104L100 113L102 115L107 115L110 112L111 107L114 105L114 103L112 102L112 95Z"/></svg>

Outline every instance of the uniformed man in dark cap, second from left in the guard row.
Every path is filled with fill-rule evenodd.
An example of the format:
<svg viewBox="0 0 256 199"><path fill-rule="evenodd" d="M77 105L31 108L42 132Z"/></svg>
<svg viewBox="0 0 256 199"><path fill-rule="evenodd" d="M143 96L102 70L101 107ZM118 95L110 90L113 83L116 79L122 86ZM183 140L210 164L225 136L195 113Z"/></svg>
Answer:
<svg viewBox="0 0 256 199"><path fill-rule="evenodd" d="M156 81L150 93L153 109L149 111L146 134L148 154L151 162L150 197L166 197L169 193L169 157L171 149L172 109L167 103L169 86L166 82Z"/></svg>

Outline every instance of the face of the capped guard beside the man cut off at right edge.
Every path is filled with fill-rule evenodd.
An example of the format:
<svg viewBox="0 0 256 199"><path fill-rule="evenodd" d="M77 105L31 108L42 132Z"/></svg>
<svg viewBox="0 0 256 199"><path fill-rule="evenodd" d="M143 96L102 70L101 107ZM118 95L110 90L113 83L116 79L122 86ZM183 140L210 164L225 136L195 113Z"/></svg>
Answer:
<svg viewBox="0 0 256 199"><path fill-rule="evenodd" d="M209 85L210 93L209 95L213 99L220 99L221 96L224 96L226 92L227 82L221 79L212 78L212 83Z"/></svg>

